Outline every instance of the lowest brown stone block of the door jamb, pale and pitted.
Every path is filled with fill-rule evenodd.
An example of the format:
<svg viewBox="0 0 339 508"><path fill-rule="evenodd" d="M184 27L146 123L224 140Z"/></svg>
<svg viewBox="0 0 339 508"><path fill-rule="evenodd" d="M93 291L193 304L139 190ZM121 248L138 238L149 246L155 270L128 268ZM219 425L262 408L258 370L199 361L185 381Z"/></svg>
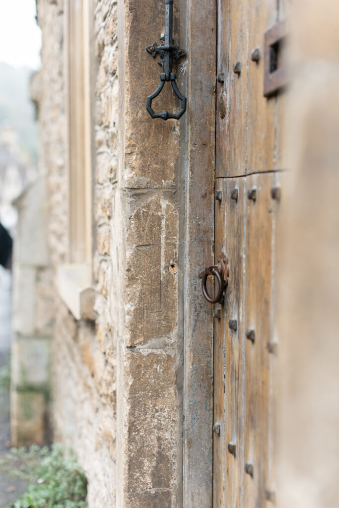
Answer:
<svg viewBox="0 0 339 508"><path fill-rule="evenodd" d="M165 348L130 351L124 367L129 378L125 393L126 505L178 506L180 453L175 451L181 411L175 356Z"/></svg>

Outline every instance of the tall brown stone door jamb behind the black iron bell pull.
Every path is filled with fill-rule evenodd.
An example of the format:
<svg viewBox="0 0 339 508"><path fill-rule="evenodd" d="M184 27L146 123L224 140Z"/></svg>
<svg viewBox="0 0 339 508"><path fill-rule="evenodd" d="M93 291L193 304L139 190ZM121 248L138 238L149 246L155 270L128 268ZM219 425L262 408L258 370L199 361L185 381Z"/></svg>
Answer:
<svg viewBox="0 0 339 508"><path fill-rule="evenodd" d="M161 69L145 47L160 43L164 2L120 0L118 7L124 246L119 261L117 506L176 508L182 489L180 121L153 120L146 111ZM169 83L164 90L154 109L178 110Z"/></svg>

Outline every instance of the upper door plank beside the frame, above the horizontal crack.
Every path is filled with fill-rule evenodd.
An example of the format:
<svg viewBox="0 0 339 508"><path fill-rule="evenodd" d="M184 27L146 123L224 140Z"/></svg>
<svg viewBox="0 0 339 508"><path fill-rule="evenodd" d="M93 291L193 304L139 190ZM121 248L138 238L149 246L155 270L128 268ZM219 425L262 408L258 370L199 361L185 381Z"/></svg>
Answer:
<svg viewBox="0 0 339 508"><path fill-rule="evenodd" d="M245 174L246 98L248 57L248 0L219 2L218 72L224 72L224 84L217 91L217 177ZM226 49L225 49L226 48ZM237 71L233 66L237 65ZM240 72L238 72L240 70ZM219 114L220 99L227 101L226 115Z"/></svg>

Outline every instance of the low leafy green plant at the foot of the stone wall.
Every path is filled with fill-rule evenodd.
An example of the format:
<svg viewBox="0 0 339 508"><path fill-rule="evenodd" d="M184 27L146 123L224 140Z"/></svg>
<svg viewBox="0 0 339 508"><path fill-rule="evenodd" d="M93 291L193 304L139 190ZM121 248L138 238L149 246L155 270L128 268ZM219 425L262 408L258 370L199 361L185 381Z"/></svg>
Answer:
<svg viewBox="0 0 339 508"><path fill-rule="evenodd" d="M3 469L28 482L13 508L86 508L87 480L73 452L55 443L12 449Z"/></svg>

